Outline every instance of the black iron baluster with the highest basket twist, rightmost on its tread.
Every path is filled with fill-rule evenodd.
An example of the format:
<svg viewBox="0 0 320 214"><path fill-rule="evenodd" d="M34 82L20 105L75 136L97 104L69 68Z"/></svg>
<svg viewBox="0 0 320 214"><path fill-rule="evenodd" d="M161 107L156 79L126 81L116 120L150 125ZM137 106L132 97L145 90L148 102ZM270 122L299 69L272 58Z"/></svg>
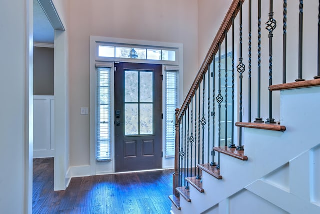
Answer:
<svg viewBox="0 0 320 214"><path fill-rule="evenodd" d="M273 0L270 0L269 20L265 23L269 31L269 86L272 85L272 63L273 63L273 30L276 28L276 20L273 18ZM269 118L265 123L275 123L272 118L272 91L269 90Z"/></svg>

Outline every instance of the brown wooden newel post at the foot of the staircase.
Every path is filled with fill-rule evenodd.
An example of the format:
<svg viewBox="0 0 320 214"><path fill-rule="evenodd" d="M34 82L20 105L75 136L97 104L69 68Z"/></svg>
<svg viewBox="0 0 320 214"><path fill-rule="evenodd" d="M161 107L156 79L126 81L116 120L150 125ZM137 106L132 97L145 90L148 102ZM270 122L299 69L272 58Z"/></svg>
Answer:
<svg viewBox="0 0 320 214"><path fill-rule="evenodd" d="M176 187L179 186L179 146L180 146L180 124L178 121L178 112L180 109L175 109L175 152L174 152L174 173L173 173L173 194L178 196Z"/></svg>

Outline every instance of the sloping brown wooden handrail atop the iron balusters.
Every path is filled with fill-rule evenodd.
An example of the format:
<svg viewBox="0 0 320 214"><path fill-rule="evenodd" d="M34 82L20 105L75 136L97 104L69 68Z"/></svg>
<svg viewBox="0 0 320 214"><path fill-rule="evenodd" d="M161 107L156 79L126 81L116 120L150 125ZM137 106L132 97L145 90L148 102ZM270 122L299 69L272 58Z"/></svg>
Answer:
<svg viewBox="0 0 320 214"><path fill-rule="evenodd" d="M207 72L208 65L213 61L213 56L217 53L218 51L218 45L219 43L222 43L224 40L224 33L225 31L228 31L232 25L232 17L235 16L239 9L240 9L240 4L243 4L244 0L233 0L231 3L231 6L226 13L224 20L216 33L216 36L210 46L210 49L208 53L206 54L202 65L198 71L198 74L196 75L193 84L189 90L189 93L187 94L182 107L180 108L180 111L177 114L177 119L178 121L181 119L182 115L184 114L184 111L186 110L188 104L191 102L191 98L194 96L195 90L199 87L199 83L201 82L203 78L203 74Z"/></svg>

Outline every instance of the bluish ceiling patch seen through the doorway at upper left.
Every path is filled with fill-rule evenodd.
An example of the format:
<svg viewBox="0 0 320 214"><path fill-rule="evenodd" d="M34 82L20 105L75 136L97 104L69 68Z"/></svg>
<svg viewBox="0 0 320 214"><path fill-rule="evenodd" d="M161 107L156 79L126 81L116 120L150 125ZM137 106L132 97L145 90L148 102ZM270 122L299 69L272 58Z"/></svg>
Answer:
<svg viewBox="0 0 320 214"><path fill-rule="evenodd" d="M54 43L54 29L37 0L33 0L33 41Z"/></svg>

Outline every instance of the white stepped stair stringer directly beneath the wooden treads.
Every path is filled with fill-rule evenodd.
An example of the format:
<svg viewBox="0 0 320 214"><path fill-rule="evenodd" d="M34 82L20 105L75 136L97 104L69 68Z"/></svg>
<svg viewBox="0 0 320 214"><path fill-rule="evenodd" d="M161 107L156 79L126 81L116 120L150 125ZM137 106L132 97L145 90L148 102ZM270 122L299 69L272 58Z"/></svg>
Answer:
<svg viewBox="0 0 320 214"><path fill-rule="evenodd" d="M248 161L239 161L227 155L220 155L220 174L216 180L203 172L205 193L195 203L181 204L181 213L201 213L210 209L245 186L254 183L276 170L299 154L320 143L317 121L320 119L320 87L292 89L280 92L281 124L285 132L243 128L243 142Z"/></svg>

